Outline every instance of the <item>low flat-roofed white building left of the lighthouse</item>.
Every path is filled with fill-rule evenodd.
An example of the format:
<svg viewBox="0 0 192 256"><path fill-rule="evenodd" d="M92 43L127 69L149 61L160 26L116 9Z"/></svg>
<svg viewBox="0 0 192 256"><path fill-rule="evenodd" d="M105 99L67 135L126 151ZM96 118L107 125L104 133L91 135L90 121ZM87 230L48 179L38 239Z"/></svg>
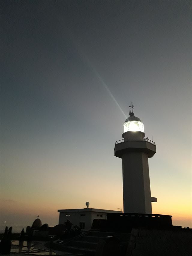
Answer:
<svg viewBox="0 0 192 256"><path fill-rule="evenodd" d="M87 205L87 203L86 203ZM83 208L83 209L64 209L58 210L59 224L65 224L67 219L81 229L91 229L94 219L107 219L107 213L122 213L121 211Z"/></svg>

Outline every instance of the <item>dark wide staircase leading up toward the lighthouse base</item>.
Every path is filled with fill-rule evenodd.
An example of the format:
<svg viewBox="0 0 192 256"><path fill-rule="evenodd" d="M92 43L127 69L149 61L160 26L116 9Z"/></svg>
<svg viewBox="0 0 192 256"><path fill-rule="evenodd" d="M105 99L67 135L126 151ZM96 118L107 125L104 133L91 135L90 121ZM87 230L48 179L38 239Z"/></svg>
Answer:
<svg viewBox="0 0 192 256"><path fill-rule="evenodd" d="M116 236L120 240L121 255L119 256L124 256L130 238L130 233L90 231L82 236L74 237L66 243L62 243L62 250L71 253L81 253L81 255L86 256L95 256L98 241L106 236Z"/></svg>

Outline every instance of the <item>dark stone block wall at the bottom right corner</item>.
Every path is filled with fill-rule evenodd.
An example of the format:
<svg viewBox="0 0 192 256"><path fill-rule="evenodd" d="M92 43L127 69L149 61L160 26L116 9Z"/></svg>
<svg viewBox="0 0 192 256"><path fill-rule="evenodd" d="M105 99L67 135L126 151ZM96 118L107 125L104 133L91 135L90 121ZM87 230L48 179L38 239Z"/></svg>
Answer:
<svg viewBox="0 0 192 256"><path fill-rule="evenodd" d="M190 256L192 232L186 229L132 229L126 256Z"/></svg>

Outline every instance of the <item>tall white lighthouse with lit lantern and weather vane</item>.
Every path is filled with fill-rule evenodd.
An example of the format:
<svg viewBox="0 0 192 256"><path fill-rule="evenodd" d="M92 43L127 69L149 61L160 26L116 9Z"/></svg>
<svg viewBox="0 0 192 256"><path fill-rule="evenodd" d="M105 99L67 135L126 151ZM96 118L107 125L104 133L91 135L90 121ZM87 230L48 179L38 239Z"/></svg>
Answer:
<svg viewBox="0 0 192 256"><path fill-rule="evenodd" d="M124 123L124 140L116 141L115 156L122 158L124 213L152 213L148 158L156 153L155 142L145 138L143 122L133 104Z"/></svg>

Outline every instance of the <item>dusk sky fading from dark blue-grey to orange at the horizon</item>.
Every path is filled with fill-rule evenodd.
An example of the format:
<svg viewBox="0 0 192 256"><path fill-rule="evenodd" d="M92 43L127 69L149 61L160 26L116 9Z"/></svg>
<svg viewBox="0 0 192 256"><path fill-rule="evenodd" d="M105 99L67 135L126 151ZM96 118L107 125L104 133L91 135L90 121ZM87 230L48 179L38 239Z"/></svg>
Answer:
<svg viewBox="0 0 192 256"><path fill-rule="evenodd" d="M153 213L192 228L191 2L1 1L0 224L123 209L114 156L134 103Z"/></svg>

